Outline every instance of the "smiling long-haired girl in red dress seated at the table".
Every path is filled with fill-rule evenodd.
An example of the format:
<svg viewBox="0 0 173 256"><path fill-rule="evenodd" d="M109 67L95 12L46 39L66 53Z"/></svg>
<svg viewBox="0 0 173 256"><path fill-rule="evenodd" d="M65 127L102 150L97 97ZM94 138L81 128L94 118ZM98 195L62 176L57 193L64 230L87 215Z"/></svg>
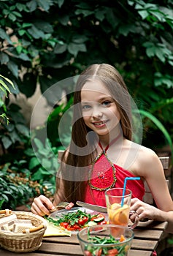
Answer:
<svg viewBox="0 0 173 256"><path fill-rule="evenodd" d="M139 176L139 181L126 185L132 191L131 210L139 219L173 222L172 197L161 162L154 151L133 141L133 124L140 119L132 116L131 102L114 67L93 64L82 72L74 91L72 140L61 159L54 203L40 195L31 211L48 215L53 205L64 200L106 206L106 189L123 187L127 176ZM144 181L158 208L142 202Z"/></svg>

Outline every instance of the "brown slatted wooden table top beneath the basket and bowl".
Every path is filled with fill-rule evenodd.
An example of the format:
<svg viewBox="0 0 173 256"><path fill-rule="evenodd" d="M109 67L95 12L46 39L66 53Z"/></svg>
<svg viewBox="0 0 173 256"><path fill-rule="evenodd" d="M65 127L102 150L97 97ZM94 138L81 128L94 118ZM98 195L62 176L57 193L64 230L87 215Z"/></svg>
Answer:
<svg viewBox="0 0 173 256"><path fill-rule="evenodd" d="M152 256L158 242L164 236L167 222L140 222L134 229L134 240L128 256ZM42 246L35 252L15 253L0 249L1 256L81 256L76 235L43 238Z"/></svg>

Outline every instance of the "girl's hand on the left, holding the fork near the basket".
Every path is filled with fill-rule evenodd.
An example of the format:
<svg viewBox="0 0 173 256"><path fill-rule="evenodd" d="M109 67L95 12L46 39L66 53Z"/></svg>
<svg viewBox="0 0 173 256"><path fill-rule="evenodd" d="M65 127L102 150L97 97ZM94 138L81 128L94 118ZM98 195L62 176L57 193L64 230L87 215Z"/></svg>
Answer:
<svg viewBox="0 0 173 256"><path fill-rule="evenodd" d="M53 203L45 195L35 197L31 205L31 211L39 216L50 215L49 210L53 210L54 208Z"/></svg>

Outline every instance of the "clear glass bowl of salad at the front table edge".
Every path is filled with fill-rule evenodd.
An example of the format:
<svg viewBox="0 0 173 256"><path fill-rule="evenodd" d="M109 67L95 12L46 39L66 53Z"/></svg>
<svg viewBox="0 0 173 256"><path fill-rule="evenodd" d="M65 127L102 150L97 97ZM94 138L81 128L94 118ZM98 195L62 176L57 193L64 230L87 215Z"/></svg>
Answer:
<svg viewBox="0 0 173 256"><path fill-rule="evenodd" d="M131 248L134 231L120 225L96 225L80 230L77 238L85 256L126 256Z"/></svg>

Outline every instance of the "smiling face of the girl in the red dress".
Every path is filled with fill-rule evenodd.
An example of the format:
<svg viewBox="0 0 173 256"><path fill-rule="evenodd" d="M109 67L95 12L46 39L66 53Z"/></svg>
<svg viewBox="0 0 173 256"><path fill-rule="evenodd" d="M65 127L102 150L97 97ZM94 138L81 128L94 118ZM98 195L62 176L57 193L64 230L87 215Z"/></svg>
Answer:
<svg viewBox="0 0 173 256"><path fill-rule="evenodd" d="M120 121L120 113L106 86L88 80L81 90L82 118L99 136L109 135Z"/></svg>

